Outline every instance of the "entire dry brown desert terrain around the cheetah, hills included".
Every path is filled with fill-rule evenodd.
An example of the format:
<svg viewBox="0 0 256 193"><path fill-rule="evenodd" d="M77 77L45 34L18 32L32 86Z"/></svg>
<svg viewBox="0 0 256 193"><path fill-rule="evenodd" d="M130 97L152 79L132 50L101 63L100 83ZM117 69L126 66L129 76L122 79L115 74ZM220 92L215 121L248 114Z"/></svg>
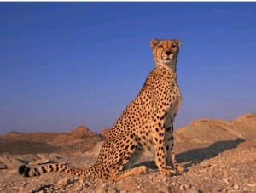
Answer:
<svg viewBox="0 0 256 193"><path fill-rule="evenodd" d="M256 114L231 122L196 120L174 134L177 162L185 173L161 176L148 153L138 164L148 166L150 173L113 183L64 173L33 178L17 173L24 163L92 165L103 138L84 126L70 133L7 133L0 136L0 192L256 192Z"/></svg>

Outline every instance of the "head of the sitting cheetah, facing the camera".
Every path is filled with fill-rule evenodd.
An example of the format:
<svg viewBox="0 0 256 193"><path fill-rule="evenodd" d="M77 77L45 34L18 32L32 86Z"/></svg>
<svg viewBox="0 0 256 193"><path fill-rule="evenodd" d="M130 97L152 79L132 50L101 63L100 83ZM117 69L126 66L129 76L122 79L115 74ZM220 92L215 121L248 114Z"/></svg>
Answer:
<svg viewBox="0 0 256 193"><path fill-rule="evenodd" d="M175 69L177 63L177 54L181 46L179 39L175 40L158 40L153 39L150 42L150 46L153 49L154 60L156 65L169 67Z"/></svg>

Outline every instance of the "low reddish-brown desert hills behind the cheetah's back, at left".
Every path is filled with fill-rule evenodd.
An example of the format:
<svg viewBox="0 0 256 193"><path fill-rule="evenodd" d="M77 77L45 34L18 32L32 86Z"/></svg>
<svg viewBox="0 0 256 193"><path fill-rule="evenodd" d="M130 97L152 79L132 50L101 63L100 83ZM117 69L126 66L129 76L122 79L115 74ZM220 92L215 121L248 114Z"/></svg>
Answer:
<svg viewBox="0 0 256 193"><path fill-rule="evenodd" d="M91 150L100 135L84 125L67 133L20 133L10 132L0 136L0 154L76 153Z"/></svg>

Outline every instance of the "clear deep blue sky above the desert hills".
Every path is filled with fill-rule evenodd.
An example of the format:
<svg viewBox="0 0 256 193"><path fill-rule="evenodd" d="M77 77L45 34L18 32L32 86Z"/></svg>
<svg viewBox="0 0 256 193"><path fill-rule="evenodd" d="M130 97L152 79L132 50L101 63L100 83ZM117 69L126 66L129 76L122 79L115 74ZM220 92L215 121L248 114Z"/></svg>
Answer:
<svg viewBox="0 0 256 193"><path fill-rule="evenodd" d="M111 128L154 68L152 38L179 38L195 119L256 112L256 3L0 3L0 134Z"/></svg>

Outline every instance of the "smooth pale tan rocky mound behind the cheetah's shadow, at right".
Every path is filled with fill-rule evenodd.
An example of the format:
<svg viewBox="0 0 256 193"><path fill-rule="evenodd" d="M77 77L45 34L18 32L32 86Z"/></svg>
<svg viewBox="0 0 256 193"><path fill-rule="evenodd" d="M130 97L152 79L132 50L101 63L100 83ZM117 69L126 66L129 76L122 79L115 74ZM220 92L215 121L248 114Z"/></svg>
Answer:
<svg viewBox="0 0 256 193"><path fill-rule="evenodd" d="M194 141L198 143L213 143L222 140L256 139L256 114L246 114L225 120L203 118L190 122L189 126L179 128L174 132L177 141Z"/></svg>

